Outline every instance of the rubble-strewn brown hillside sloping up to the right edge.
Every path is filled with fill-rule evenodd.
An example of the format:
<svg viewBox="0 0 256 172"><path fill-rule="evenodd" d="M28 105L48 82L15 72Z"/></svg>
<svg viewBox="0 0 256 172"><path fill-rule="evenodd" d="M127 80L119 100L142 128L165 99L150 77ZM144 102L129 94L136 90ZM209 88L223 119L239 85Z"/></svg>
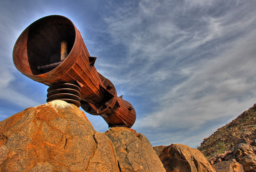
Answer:
<svg viewBox="0 0 256 172"><path fill-rule="evenodd" d="M238 161L243 165L244 171L251 171L256 165L255 138L256 104L210 137L204 138L198 150L211 164L227 160Z"/></svg>

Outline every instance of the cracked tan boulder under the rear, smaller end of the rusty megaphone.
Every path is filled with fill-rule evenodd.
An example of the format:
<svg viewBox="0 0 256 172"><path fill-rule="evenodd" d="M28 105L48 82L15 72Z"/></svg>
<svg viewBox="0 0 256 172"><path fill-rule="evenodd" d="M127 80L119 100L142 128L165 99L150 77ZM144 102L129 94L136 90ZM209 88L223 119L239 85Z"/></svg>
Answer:
<svg viewBox="0 0 256 172"><path fill-rule="evenodd" d="M120 171L165 171L162 162L148 139L125 127L115 127L104 134L116 148Z"/></svg>

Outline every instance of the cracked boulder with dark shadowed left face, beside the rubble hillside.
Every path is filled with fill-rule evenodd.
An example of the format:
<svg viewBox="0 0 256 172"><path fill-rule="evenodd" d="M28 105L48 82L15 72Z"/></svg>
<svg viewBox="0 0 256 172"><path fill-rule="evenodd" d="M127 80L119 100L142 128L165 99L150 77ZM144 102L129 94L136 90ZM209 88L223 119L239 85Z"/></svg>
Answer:
<svg viewBox="0 0 256 172"><path fill-rule="evenodd" d="M166 146L159 158L164 164L166 172L215 172L199 150L187 145Z"/></svg>

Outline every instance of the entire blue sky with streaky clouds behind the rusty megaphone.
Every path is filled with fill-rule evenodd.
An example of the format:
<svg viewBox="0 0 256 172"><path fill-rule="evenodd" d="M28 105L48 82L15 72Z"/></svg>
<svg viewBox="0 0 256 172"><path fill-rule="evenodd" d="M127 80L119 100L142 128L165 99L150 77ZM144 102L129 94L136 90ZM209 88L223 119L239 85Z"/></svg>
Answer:
<svg viewBox="0 0 256 172"><path fill-rule="evenodd" d="M1 0L0 120L46 103L47 86L15 68L12 49L28 25L58 14L135 108L132 129L153 146L195 148L256 103L255 9L254 0Z"/></svg>

